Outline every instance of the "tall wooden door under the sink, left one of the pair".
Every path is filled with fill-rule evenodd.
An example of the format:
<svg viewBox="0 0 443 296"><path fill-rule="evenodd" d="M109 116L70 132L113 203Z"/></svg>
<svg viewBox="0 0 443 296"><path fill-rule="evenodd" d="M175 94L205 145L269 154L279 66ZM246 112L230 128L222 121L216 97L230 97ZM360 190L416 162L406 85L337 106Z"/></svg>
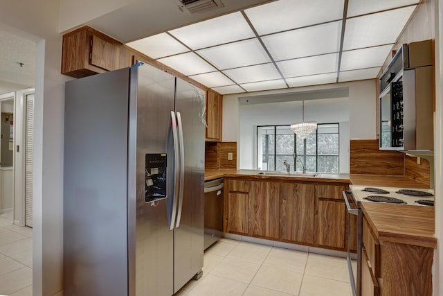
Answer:
<svg viewBox="0 0 443 296"><path fill-rule="evenodd" d="M280 232L280 184L251 182L251 234L262 238L278 238Z"/></svg>

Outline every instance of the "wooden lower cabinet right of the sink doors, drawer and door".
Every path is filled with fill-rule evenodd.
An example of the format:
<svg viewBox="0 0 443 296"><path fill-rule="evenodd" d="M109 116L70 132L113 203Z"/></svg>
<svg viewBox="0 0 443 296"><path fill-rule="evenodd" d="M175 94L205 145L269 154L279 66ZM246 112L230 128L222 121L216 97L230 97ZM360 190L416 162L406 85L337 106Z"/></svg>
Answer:
<svg viewBox="0 0 443 296"><path fill-rule="evenodd" d="M346 186L316 185L314 244L346 250Z"/></svg>

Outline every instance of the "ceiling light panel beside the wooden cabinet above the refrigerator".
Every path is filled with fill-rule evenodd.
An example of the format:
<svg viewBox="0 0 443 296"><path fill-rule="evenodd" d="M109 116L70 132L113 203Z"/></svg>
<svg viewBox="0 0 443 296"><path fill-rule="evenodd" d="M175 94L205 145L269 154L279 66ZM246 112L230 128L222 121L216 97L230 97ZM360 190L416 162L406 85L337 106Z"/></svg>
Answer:
<svg viewBox="0 0 443 296"><path fill-rule="evenodd" d="M186 53L189 49L180 42L172 38L167 33L157 34L146 37L141 40L129 42L127 46L145 53L145 55L157 59L168 55L177 55L178 53Z"/></svg>

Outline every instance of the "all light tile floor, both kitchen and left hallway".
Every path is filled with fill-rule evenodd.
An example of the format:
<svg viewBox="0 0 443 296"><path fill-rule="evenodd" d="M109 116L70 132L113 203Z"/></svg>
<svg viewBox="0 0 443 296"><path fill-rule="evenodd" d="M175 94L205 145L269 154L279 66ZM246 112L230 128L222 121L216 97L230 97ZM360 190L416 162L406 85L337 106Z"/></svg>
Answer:
<svg viewBox="0 0 443 296"><path fill-rule="evenodd" d="M0 295L32 296L33 232L0 215ZM346 259L221 238L177 296L352 296Z"/></svg>

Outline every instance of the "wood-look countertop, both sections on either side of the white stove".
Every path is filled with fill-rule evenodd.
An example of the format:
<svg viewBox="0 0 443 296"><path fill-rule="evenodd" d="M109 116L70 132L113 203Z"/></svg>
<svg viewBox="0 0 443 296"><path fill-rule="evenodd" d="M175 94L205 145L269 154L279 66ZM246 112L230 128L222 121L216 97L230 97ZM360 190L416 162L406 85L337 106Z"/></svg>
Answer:
<svg viewBox="0 0 443 296"><path fill-rule="evenodd" d="M205 180L219 177L252 177L255 180L300 180L307 182L338 182L365 186L388 186L405 188L429 188L427 184L407 177L393 175L321 174L320 177L292 177L257 175L256 170L206 170ZM363 214L379 241L406 243L420 247L437 247L435 211L433 207L404 204L362 203Z"/></svg>

